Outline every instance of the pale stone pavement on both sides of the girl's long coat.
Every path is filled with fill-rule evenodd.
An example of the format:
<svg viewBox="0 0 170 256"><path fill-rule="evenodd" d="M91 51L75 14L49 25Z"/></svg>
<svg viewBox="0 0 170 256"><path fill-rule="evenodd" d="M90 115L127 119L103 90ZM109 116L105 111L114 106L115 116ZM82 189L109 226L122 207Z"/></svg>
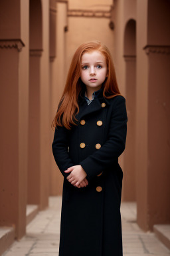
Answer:
<svg viewBox="0 0 170 256"><path fill-rule="evenodd" d="M27 225L27 235L15 241L3 256L57 256L61 200L61 197L50 197L48 209L38 213ZM124 256L170 256L169 249L154 233L144 233L137 226L135 203L122 203L121 212Z"/></svg>

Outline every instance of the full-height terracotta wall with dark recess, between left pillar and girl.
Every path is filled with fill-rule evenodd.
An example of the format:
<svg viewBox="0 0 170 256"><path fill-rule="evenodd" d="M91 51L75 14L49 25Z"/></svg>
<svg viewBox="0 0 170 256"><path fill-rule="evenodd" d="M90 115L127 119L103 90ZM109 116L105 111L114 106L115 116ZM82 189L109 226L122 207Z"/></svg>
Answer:
<svg viewBox="0 0 170 256"><path fill-rule="evenodd" d="M30 1L29 204L48 205L50 175L49 3Z"/></svg>

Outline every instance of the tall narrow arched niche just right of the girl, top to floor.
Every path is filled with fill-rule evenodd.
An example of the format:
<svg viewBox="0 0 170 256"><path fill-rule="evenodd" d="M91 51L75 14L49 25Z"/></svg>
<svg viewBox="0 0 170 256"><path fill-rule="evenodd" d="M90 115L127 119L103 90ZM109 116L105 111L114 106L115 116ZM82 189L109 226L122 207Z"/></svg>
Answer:
<svg viewBox="0 0 170 256"><path fill-rule="evenodd" d="M128 133L124 158L124 201L135 201L135 92L136 92L136 23L130 19L124 32L124 60L126 61L126 105Z"/></svg>

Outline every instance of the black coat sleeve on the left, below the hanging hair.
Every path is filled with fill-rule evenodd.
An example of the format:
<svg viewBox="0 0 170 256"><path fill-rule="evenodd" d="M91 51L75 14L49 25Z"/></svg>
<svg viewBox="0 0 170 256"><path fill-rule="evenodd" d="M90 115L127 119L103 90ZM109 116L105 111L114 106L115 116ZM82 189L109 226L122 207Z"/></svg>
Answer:
<svg viewBox="0 0 170 256"><path fill-rule="evenodd" d="M64 171L74 165L68 155L68 133L69 131L64 126L58 126L55 128L54 140L52 142L54 159L64 177L70 174L64 173Z"/></svg>

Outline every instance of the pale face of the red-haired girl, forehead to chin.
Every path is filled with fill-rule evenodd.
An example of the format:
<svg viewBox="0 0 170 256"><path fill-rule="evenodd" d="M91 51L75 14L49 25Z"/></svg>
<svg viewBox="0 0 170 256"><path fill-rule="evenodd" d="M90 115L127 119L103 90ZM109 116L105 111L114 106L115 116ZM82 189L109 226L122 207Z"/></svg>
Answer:
<svg viewBox="0 0 170 256"><path fill-rule="evenodd" d="M86 89L95 88L95 91L98 91L102 87L107 73L106 58L100 51L82 55L80 78L86 85Z"/></svg>

